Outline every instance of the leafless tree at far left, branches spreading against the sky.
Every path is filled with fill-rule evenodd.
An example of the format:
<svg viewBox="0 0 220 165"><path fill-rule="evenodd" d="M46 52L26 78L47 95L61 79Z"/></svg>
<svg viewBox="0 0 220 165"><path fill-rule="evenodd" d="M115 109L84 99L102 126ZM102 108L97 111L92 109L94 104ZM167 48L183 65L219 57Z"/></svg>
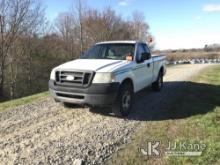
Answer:
<svg viewBox="0 0 220 165"><path fill-rule="evenodd" d="M3 96L7 58L15 41L36 27L41 6L34 0L0 0L0 96ZM13 65L12 65L13 66Z"/></svg>

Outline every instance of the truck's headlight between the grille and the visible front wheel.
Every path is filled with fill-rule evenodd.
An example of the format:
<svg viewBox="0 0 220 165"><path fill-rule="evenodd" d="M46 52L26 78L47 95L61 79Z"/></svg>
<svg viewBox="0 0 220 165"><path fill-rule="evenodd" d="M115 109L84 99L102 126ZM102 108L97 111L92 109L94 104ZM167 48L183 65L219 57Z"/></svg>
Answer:
<svg viewBox="0 0 220 165"><path fill-rule="evenodd" d="M115 82L115 76L112 73L96 73L93 83L111 83Z"/></svg>

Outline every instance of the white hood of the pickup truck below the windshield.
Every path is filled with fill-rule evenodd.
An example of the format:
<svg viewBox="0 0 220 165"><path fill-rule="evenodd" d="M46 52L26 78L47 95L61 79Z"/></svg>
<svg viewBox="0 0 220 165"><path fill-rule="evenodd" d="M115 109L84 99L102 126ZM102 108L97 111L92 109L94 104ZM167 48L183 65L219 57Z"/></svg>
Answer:
<svg viewBox="0 0 220 165"><path fill-rule="evenodd" d="M128 62L125 60L77 59L64 63L56 69L108 72L126 63Z"/></svg>

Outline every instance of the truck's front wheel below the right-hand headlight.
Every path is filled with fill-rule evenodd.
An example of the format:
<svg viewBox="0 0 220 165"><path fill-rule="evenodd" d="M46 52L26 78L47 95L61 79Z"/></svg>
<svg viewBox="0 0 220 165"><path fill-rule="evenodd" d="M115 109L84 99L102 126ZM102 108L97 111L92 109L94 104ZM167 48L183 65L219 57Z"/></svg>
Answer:
<svg viewBox="0 0 220 165"><path fill-rule="evenodd" d="M116 103L113 105L112 112L119 117L127 116L133 105L133 88L129 83L123 84L119 89Z"/></svg>

